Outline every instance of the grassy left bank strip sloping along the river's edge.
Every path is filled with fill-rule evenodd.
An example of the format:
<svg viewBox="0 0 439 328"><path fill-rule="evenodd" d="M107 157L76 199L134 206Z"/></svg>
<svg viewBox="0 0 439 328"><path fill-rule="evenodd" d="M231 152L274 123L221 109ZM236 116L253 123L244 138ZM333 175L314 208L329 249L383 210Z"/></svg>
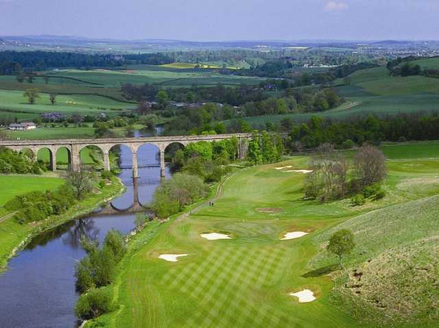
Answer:
<svg viewBox="0 0 439 328"><path fill-rule="evenodd" d="M54 229L70 220L80 218L80 216L90 214L99 207L99 205L107 203L122 194L125 188L119 178L113 177L110 185L99 189L99 193L97 194L90 194L86 199L78 202L63 214L49 216L46 220L38 223L28 223L26 225L21 225L12 218L1 222L0 238L4 234L14 236L14 238L8 238L8 242L2 244L0 249L0 272L7 268L9 260L24 249L38 234L49 229Z"/></svg>

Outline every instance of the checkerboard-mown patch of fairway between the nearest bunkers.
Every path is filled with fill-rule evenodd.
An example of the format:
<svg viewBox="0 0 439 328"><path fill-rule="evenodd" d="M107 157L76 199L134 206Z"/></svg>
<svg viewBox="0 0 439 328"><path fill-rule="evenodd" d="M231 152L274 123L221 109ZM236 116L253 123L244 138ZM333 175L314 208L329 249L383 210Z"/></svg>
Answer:
<svg viewBox="0 0 439 328"><path fill-rule="evenodd" d="M286 325L288 318L270 305L248 297L248 290L274 283L287 266L287 248L215 247L199 264L168 271L163 288L187 294L200 307L183 327L254 327ZM251 294L251 293L250 293Z"/></svg>

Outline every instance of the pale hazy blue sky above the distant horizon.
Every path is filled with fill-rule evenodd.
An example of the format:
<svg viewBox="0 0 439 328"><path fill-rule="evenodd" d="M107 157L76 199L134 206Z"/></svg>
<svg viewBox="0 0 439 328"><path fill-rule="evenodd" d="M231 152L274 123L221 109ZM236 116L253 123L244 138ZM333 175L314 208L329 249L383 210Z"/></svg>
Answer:
<svg viewBox="0 0 439 328"><path fill-rule="evenodd" d="M439 0L0 0L0 35L438 40Z"/></svg>

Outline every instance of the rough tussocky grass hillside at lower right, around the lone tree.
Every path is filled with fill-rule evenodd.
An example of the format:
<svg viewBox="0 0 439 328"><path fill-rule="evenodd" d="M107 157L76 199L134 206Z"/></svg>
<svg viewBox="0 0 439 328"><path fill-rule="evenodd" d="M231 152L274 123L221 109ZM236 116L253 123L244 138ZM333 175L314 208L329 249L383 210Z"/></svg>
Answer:
<svg viewBox="0 0 439 328"><path fill-rule="evenodd" d="M438 196L357 216L314 238L322 251L311 268L333 264L324 244L335 231L350 229L357 246L346 257L348 269L337 275L333 298L364 323L435 327L438 218Z"/></svg>

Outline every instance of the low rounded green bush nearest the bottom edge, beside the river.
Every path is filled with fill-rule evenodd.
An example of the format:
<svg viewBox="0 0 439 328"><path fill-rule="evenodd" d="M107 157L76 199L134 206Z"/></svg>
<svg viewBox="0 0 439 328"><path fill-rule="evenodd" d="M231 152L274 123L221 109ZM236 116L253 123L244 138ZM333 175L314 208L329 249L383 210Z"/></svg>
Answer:
<svg viewBox="0 0 439 328"><path fill-rule="evenodd" d="M76 303L75 314L78 318L88 320L111 312L113 309L110 288L98 288L80 296Z"/></svg>

